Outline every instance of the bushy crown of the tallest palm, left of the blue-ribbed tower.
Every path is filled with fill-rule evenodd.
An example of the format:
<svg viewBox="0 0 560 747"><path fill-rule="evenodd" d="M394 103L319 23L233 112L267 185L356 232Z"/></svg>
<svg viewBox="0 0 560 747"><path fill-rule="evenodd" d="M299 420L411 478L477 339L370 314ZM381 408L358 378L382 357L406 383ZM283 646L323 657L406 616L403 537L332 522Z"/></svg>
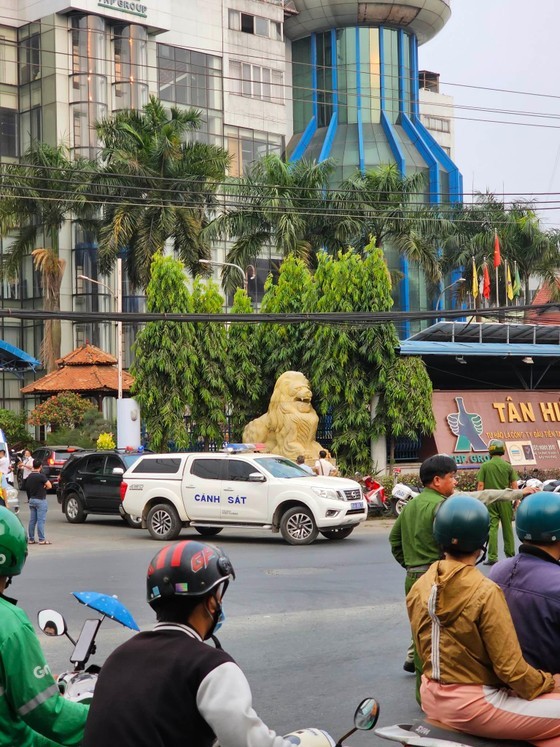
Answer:
<svg viewBox="0 0 560 747"><path fill-rule="evenodd" d="M167 242L193 275L210 250L201 232L216 206L229 156L223 148L188 140L200 112L166 110L150 98L142 112L125 110L96 126L104 144L93 189L104 203L99 267L109 273L126 248L134 287L146 288L152 257Z"/></svg>

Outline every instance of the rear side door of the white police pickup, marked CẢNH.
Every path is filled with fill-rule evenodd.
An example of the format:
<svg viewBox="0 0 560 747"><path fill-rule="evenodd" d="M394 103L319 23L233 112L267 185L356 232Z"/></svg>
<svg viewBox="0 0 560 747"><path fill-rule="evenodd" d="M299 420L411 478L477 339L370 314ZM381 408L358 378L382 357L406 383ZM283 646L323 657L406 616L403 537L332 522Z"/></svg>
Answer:
<svg viewBox="0 0 560 747"><path fill-rule="evenodd" d="M189 518L212 521L220 518L222 464L224 459L194 457L183 475L183 503Z"/></svg>

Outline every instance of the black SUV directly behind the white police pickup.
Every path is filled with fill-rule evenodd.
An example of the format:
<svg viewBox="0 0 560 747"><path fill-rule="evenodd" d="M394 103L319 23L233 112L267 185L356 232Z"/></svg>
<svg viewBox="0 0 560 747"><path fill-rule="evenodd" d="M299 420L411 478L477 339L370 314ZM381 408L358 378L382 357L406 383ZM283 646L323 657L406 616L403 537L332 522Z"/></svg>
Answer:
<svg viewBox="0 0 560 747"><path fill-rule="evenodd" d="M119 514L120 486L123 473L145 451L85 451L69 459L58 482L56 495L62 513L71 524L81 524L88 514ZM140 517L122 517L126 523L141 527Z"/></svg>

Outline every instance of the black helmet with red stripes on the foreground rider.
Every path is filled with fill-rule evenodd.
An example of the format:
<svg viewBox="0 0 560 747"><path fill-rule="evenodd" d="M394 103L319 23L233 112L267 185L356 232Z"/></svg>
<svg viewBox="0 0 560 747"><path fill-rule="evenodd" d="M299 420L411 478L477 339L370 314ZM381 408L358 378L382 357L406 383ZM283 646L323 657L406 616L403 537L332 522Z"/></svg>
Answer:
<svg viewBox="0 0 560 747"><path fill-rule="evenodd" d="M170 597L203 597L235 578L228 556L206 542L186 540L168 545L148 566L148 604Z"/></svg>

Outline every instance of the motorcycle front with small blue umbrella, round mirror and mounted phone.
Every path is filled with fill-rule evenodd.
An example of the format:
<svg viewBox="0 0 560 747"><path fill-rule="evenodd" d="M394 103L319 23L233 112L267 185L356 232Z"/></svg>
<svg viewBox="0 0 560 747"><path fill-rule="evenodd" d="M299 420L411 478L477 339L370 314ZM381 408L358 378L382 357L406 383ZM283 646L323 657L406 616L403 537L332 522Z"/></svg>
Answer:
<svg viewBox="0 0 560 747"><path fill-rule="evenodd" d="M101 618L90 618L84 621L77 640L70 636L66 620L56 610L39 610L37 623L45 635L65 635L74 646L70 654L70 661L74 668L57 676L58 689L68 700L75 703L90 703L101 668L96 664L91 664L86 669L86 664L95 654L95 638L101 623L109 617L130 630L138 631L140 628L117 597L110 597L96 591L73 591L72 594L78 602L101 614Z"/></svg>

